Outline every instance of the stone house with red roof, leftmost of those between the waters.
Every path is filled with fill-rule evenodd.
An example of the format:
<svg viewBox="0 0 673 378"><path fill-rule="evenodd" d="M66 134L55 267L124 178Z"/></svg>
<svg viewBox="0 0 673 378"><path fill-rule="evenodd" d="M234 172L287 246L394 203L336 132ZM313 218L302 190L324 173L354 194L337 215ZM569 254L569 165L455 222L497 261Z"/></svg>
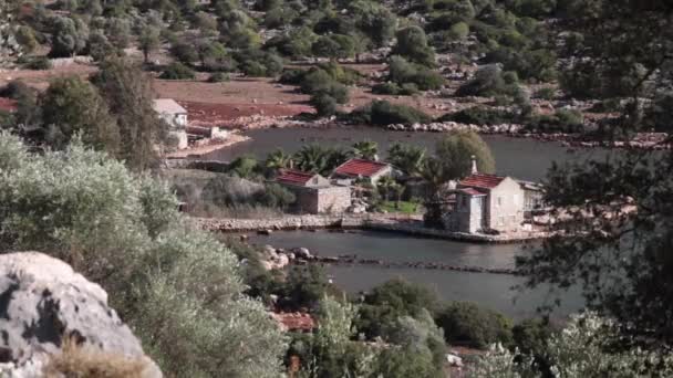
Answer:
<svg viewBox="0 0 673 378"><path fill-rule="evenodd" d="M297 197L294 208L303 213L342 213L351 206L351 188L333 186L318 175L296 169L282 169L276 182Z"/></svg>

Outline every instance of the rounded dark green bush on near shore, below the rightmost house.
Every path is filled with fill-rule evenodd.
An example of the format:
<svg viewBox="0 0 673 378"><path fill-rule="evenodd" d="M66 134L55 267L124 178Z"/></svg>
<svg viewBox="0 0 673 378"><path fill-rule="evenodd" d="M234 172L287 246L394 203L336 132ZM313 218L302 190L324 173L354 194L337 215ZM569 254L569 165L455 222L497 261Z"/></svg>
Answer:
<svg viewBox="0 0 673 378"><path fill-rule="evenodd" d="M436 322L446 342L486 348L494 343L511 343L511 322L503 314L469 302L454 302L441 309Z"/></svg>

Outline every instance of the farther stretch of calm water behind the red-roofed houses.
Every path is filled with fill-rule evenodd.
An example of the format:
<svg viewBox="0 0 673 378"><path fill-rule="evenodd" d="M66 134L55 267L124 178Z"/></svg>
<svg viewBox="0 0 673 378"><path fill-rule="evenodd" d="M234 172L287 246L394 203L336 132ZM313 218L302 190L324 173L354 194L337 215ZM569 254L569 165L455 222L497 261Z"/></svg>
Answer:
<svg viewBox="0 0 673 378"><path fill-rule="evenodd" d="M260 158L276 148L294 153L306 144L320 144L328 147L349 147L355 141L374 140L379 150L384 153L396 143L408 143L434 150L444 134L441 133L402 133L387 132L373 127L340 127L328 129L314 128L270 128L246 132L251 140L215 151L208 159L232 160L241 155L253 155ZM540 143L532 139L508 138L504 136L485 136L496 159L497 170L501 175L526 180L541 180L552 161L569 161L587 155L601 154L601 150L570 153L558 143Z"/></svg>

